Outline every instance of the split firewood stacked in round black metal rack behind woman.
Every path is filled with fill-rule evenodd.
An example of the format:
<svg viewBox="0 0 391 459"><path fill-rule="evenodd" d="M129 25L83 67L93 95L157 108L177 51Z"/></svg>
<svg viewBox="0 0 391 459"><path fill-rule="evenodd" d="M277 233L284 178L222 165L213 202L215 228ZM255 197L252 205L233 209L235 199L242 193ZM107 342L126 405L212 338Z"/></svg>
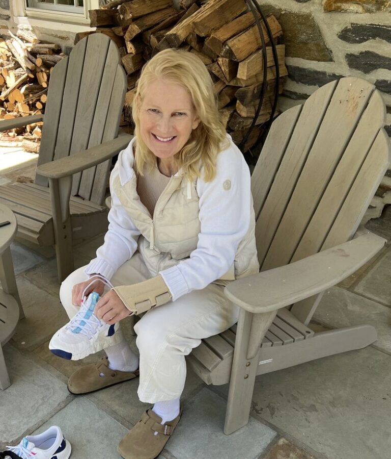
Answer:
<svg viewBox="0 0 391 459"><path fill-rule="evenodd" d="M128 75L123 123L131 123L135 83L144 63L162 49L179 48L201 58L208 68L219 111L227 131L239 144L256 114L263 81L262 41L255 17L244 0L182 0L180 9L172 0L114 0L100 10L90 10L95 32L76 35L75 43L90 33L103 33L119 47ZM273 15L267 17L272 35L282 35ZM267 90L255 129L245 149L257 141L262 124L269 120L276 82L272 48L262 24L267 50ZM276 46L280 76L287 74L285 47ZM282 84L278 91L282 91Z"/></svg>

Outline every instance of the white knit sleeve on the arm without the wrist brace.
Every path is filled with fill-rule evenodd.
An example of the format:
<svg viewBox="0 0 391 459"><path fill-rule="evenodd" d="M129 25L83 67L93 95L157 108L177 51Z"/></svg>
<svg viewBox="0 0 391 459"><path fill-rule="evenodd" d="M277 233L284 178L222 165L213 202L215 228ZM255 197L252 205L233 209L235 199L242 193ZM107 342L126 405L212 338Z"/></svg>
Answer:
<svg viewBox="0 0 391 459"><path fill-rule="evenodd" d="M110 175L111 209L108 212L108 230L104 243L96 251L96 258L85 269L86 274L101 274L107 280L133 256L140 235L111 186L117 175L118 168L115 167Z"/></svg>

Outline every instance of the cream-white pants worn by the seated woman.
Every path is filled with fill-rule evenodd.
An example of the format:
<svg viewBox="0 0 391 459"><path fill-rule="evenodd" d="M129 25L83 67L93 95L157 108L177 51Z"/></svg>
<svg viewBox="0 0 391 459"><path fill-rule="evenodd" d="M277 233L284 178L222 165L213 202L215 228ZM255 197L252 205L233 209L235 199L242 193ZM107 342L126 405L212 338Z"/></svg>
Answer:
<svg viewBox="0 0 391 459"><path fill-rule="evenodd" d="M72 286L88 278L84 268L76 269L61 285L60 299L69 318L78 311L71 301ZM136 252L110 282L114 286L131 285L150 277L142 256ZM148 311L136 323L141 401L155 403L180 397L186 378L185 355L199 346L203 338L217 335L237 322L239 308L223 290L216 284L194 290Z"/></svg>

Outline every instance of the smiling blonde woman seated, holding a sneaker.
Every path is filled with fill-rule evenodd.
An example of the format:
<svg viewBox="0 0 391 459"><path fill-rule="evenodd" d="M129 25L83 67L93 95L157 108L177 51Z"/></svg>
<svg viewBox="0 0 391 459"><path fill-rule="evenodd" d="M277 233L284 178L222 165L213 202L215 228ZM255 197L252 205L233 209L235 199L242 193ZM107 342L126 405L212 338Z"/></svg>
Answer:
<svg viewBox="0 0 391 459"><path fill-rule="evenodd" d="M133 117L135 137L110 176L104 243L87 267L63 282L60 297L71 318L84 296L103 294L104 280L115 287L97 301L96 317L90 295L90 312L73 322L71 331L81 330L77 340L88 341L77 341L78 350L87 351L62 356L76 360L101 348L107 354L72 374L73 393L139 375L139 399L153 407L119 452L125 459L152 459L181 416L185 355L237 321L224 286L259 266L250 174L219 121L202 61L173 49L154 56L138 81ZM118 322L154 305L134 327L138 358Z"/></svg>

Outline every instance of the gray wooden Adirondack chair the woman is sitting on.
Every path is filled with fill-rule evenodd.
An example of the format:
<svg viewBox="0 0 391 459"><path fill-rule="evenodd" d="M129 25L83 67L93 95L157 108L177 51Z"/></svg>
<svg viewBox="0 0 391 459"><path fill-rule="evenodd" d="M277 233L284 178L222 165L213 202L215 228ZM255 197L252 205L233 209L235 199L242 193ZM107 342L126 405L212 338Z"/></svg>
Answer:
<svg viewBox="0 0 391 459"><path fill-rule="evenodd" d="M375 87L343 78L273 122L252 176L261 272L225 288L240 307L237 325L187 357L207 384L230 383L225 433L248 422L256 375L376 340L369 325L308 325L322 292L386 242L356 231L388 168L384 121Z"/></svg>

